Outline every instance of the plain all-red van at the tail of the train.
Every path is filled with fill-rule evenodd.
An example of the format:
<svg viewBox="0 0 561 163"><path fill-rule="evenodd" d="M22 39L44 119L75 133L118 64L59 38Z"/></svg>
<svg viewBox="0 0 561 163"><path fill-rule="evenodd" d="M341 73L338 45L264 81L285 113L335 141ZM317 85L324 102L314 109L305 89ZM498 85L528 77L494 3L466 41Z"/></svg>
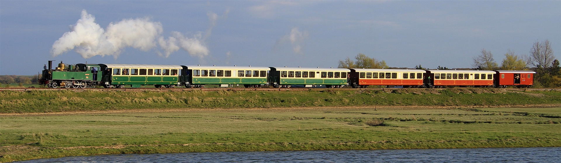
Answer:
<svg viewBox="0 0 561 163"><path fill-rule="evenodd" d="M516 86L519 88L534 85L534 71L495 70L495 85L500 88Z"/></svg>

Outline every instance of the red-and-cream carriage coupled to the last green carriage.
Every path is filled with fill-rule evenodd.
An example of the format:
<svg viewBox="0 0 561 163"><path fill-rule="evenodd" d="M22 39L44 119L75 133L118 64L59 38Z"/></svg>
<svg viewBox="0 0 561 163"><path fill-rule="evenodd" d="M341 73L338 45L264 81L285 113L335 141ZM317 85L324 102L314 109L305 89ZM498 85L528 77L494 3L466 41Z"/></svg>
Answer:
<svg viewBox="0 0 561 163"><path fill-rule="evenodd" d="M350 69L350 85L366 88L368 85L402 85L403 88L422 87L425 70L416 69Z"/></svg>

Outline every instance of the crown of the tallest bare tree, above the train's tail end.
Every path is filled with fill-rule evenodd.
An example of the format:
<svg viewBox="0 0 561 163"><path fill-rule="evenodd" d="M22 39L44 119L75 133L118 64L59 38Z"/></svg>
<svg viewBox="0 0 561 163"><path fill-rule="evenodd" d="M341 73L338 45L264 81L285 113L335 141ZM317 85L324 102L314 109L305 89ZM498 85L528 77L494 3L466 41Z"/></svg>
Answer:
<svg viewBox="0 0 561 163"><path fill-rule="evenodd" d="M534 42L530 50L530 57L528 58L530 64L535 68L546 70L551 66L553 60L555 60L555 56L553 55L553 49L551 49L549 40Z"/></svg>

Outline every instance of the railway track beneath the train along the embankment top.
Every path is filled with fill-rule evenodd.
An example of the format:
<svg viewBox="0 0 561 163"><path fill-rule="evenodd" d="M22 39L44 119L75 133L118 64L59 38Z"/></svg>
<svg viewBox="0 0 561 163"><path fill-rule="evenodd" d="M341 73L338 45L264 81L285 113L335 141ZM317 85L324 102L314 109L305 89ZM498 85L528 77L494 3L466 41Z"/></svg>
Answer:
<svg viewBox="0 0 561 163"><path fill-rule="evenodd" d="M82 92L84 90L101 91L101 92L111 92L111 91L130 91L130 92L141 92L141 91L184 91L184 90L203 90L203 91L218 91L218 90L236 90L236 91L307 91L307 90L396 90L396 89L427 89L427 88L0 88L0 91L13 90L13 91L29 91L29 90L71 90L74 92ZM449 89L449 88L431 88L431 89ZM459 88L459 89L481 89L481 88ZM550 90L561 90L561 88L496 88L505 90L533 90L533 91L550 91Z"/></svg>

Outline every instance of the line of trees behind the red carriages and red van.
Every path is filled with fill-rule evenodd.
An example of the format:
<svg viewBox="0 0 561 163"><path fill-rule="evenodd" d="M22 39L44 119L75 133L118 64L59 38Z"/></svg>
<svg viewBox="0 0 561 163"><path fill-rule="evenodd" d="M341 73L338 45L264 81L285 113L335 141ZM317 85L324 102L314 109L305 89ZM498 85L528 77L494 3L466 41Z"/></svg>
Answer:
<svg viewBox="0 0 561 163"><path fill-rule="evenodd" d="M528 55L517 55L514 51L508 50L504 56L499 65L491 51L481 49L481 54L473 57L472 68L459 68L457 70L532 70L536 72L534 87L561 87L561 67L559 66L559 60L555 59L549 40L534 42ZM389 67L384 60L378 60L362 53L356 55L355 60L347 57L347 59L339 60L338 64L338 68L349 69L406 69ZM413 69L425 70L426 68L419 64ZM436 69L449 70L449 68L440 65Z"/></svg>

